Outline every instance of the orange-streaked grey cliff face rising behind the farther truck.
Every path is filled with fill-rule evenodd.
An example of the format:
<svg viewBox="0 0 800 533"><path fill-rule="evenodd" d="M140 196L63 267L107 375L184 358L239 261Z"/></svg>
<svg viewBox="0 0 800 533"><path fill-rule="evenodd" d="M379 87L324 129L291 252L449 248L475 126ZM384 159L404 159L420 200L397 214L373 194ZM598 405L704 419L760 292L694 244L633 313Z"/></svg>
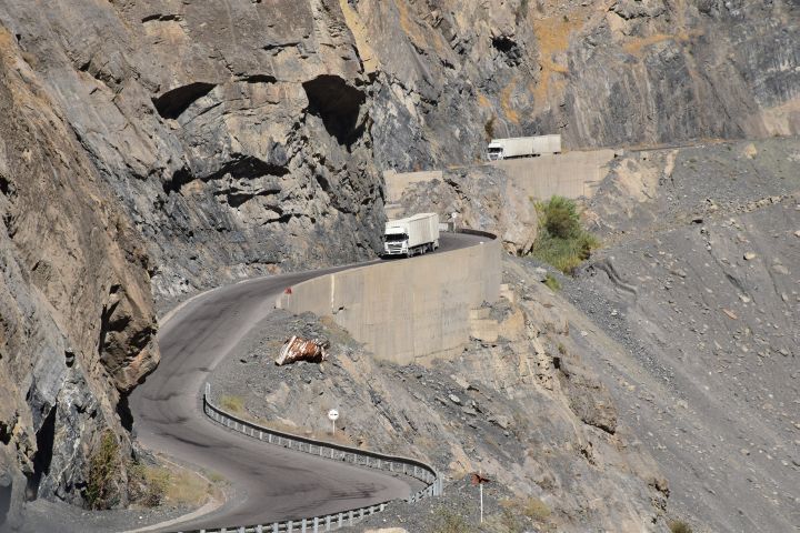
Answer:
<svg viewBox="0 0 800 533"><path fill-rule="evenodd" d="M356 3L380 66L376 155L398 170L481 159L492 135L574 149L800 131L791 0Z"/></svg>

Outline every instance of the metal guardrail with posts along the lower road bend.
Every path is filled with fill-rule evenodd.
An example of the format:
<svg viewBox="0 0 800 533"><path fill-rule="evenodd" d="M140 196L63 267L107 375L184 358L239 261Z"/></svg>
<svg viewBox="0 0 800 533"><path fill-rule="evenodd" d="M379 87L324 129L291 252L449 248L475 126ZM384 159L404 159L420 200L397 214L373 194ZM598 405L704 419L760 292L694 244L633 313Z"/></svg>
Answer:
<svg viewBox="0 0 800 533"><path fill-rule="evenodd" d="M426 486L423 489L409 495L407 499L408 502L418 502L423 497L439 496L442 494L443 485L441 476L432 466L422 461L346 446L334 442L318 441L250 422L216 405L211 400L210 383L206 383L202 406L206 415L218 424L267 444L283 446L288 450L309 453L331 461L344 461L357 466L367 466L384 472L403 474L424 483ZM193 532L180 533L320 533L353 525L367 516L386 510L387 505L391 502L392 501L387 501L339 513L298 520L284 520L269 524L194 530Z"/></svg>

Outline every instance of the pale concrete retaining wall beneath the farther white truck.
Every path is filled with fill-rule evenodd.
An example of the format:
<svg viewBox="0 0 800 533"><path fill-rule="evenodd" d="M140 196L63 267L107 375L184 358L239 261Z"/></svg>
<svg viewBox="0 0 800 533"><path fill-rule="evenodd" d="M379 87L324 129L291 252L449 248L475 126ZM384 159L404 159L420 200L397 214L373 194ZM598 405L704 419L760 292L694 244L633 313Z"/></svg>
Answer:
<svg viewBox="0 0 800 533"><path fill-rule="evenodd" d="M509 159L489 164L502 169L529 197L544 200L553 194L590 198L608 174L613 150L567 152L538 158Z"/></svg>

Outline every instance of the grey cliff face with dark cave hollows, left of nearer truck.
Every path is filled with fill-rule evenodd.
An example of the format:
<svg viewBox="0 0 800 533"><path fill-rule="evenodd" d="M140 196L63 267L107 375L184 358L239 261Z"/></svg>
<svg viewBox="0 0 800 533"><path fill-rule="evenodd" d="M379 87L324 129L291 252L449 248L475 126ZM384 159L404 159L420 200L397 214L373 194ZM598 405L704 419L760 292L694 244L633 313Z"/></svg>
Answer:
<svg viewBox="0 0 800 533"><path fill-rule="evenodd" d="M160 300L371 255L370 78L338 3L46 3L0 17L150 243Z"/></svg>

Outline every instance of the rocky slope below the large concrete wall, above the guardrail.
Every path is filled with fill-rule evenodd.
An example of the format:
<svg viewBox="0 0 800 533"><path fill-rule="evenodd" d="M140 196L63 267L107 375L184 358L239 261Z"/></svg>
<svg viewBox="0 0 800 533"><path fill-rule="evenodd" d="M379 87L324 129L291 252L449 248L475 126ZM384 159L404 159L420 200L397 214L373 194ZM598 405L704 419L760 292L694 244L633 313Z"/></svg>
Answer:
<svg viewBox="0 0 800 533"><path fill-rule="evenodd" d="M587 358L603 352L577 349L580 313L543 284L526 283L537 275L533 265L510 260L504 268L513 302L480 310L472 341L453 361L378 361L330 320L276 312L214 372L214 400L268 426L322 440L332 439L326 413L336 408L339 442L433 464L446 479L444 496L430 504L437 509L460 511L459 487L481 470L498 500L538 502L541 512L528 524L540 531L666 531L668 483L587 366ZM276 366L292 334L328 339L330 361ZM613 344L601 332L588 342ZM434 531L436 516L419 514L407 510L390 522ZM493 517L481 531L520 531L498 523L497 502L487 515ZM522 513L512 515L526 523Z"/></svg>

